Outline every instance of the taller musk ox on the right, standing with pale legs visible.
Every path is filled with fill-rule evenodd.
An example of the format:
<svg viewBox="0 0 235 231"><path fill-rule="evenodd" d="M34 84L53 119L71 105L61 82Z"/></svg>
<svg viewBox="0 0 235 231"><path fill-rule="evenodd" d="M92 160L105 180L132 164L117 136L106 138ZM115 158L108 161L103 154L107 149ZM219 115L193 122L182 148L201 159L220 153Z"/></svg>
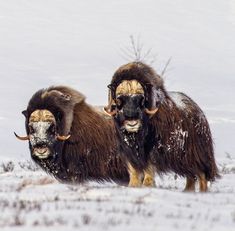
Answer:
<svg viewBox="0 0 235 231"><path fill-rule="evenodd" d="M167 92L148 65L120 67L108 86L119 149L128 162L130 186L154 186L154 173L186 177L185 191L207 191L218 177L209 124L198 105L183 93ZM142 175L144 180L142 183Z"/></svg>

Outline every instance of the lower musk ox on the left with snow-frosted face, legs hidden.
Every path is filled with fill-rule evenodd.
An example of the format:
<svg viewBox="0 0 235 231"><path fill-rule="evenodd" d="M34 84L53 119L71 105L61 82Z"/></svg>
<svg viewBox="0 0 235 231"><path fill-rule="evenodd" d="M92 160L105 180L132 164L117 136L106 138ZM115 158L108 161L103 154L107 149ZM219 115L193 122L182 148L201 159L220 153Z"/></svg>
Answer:
<svg viewBox="0 0 235 231"><path fill-rule="evenodd" d="M29 101L25 126L32 159L62 182L128 183L125 161L116 155L112 119L65 86L36 92Z"/></svg>

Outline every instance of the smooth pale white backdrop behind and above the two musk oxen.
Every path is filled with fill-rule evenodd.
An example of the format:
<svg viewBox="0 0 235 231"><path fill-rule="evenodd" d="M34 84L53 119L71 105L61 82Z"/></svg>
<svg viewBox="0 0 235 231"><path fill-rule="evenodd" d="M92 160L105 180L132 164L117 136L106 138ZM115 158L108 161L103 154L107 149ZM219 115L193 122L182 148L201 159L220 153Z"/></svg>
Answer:
<svg viewBox="0 0 235 231"><path fill-rule="evenodd" d="M216 155L235 156L235 1L9 0L0 2L0 152L29 157L24 118L32 94L49 85L106 104L107 84L127 61L121 48L140 37L156 55L167 89L184 91L206 112Z"/></svg>

